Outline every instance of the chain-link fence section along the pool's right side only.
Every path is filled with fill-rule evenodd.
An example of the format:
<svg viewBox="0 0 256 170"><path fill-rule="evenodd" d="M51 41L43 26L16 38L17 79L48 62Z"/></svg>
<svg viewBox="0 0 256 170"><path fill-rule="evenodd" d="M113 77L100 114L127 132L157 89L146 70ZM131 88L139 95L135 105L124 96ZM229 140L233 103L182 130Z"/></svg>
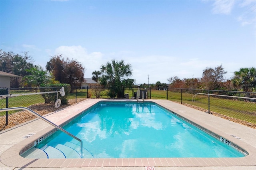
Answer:
<svg viewBox="0 0 256 170"><path fill-rule="evenodd" d="M150 99L168 99L256 128L256 93L201 89L151 88Z"/></svg>

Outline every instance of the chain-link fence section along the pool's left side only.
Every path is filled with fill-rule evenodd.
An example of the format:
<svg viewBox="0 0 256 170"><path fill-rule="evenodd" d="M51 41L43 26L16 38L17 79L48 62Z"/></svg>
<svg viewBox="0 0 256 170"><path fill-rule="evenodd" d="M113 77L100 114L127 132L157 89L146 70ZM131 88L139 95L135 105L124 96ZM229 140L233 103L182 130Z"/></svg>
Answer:
<svg viewBox="0 0 256 170"><path fill-rule="evenodd" d="M68 89L69 88L69 89ZM68 102L61 100L60 107L55 107L55 101L63 98L60 93L60 87L47 88L2 88L0 89L0 108L10 107L28 107L39 115L57 111L69 105L78 103L87 99L88 89L81 87L68 87ZM46 99L48 100L46 102ZM0 112L0 130L19 125L36 117L24 110Z"/></svg>

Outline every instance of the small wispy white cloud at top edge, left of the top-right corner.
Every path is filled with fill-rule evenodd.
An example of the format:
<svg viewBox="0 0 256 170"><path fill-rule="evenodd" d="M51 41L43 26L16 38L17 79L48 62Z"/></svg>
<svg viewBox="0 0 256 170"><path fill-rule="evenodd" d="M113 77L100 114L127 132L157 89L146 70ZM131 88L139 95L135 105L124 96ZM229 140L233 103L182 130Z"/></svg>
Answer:
<svg viewBox="0 0 256 170"><path fill-rule="evenodd" d="M215 0L212 12L214 14L230 14L234 7L234 0Z"/></svg>

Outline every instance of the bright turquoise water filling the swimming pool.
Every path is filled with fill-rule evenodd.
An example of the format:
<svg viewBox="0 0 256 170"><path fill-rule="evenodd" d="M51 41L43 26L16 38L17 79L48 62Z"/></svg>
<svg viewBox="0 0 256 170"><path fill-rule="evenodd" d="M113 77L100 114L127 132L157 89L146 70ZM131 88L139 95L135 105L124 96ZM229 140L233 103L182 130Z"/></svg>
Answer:
<svg viewBox="0 0 256 170"><path fill-rule="evenodd" d="M26 158L243 157L244 154L152 103L104 103L25 152Z"/></svg>

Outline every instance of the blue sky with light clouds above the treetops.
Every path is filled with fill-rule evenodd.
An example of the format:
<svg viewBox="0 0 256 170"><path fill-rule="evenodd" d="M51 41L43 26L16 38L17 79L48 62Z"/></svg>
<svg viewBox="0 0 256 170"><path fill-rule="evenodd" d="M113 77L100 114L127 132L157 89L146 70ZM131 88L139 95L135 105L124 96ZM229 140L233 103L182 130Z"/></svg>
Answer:
<svg viewBox="0 0 256 170"><path fill-rule="evenodd" d="M1 49L42 67L62 54L85 78L112 59L130 63L136 83L256 67L256 0L1 0L0 19Z"/></svg>

